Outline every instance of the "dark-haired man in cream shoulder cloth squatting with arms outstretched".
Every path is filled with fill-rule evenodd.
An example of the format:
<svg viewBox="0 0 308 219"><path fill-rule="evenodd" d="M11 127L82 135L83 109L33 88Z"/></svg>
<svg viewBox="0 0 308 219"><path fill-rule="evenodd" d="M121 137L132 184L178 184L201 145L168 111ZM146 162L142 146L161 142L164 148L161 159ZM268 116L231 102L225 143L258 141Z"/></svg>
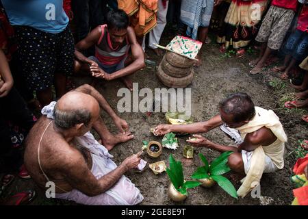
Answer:
<svg viewBox="0 0 308 219"><path fill-rule="evenodd" d="M251 168L253 151L259 146L265 153L264 172L274 172L284 166L284 142L287 136L279 122L279 118L272 110L255 107L251 98L245 93L231 94L220 101L219 114L208 121L190 125L159 125L154 131L164 135L170 131L181 133L206 133L211 129L224 125L223 130L237 129L240 131L242 143L239 146L223 146L210 142L199 135L193 135L196 140L187 140L194 146L207 147L216 151L234 151L229 156L231 170L248 173ZM232 134L232 133L231 133ZM234 132L233 132L234 134ZM238 134L236 132L235 134Z"/></svg>

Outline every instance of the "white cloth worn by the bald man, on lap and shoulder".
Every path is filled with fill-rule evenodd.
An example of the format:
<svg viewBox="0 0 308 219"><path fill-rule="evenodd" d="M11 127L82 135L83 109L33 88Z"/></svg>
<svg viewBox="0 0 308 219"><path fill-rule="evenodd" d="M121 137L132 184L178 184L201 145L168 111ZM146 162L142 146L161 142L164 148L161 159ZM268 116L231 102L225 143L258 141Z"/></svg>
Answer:
<svg viewBox="0 0 308 219"><path fill-rule="evenodd" d="M47 118L53 119L53 108L55 101L42 109L42 114ZM116 169L116 164L112 161L112 155L105 146L99 144L90 131L84 136L75 138L81 146L86 147L92 155L91 172L97 179L107 175ZM87 196L79 190L73 189L70 192L55 194L55 198L61 198L69 201L75 201L84 205L136 205L143 200L140 190L131 183L124 175L118 180L110 190L97 196Z"/></svg>

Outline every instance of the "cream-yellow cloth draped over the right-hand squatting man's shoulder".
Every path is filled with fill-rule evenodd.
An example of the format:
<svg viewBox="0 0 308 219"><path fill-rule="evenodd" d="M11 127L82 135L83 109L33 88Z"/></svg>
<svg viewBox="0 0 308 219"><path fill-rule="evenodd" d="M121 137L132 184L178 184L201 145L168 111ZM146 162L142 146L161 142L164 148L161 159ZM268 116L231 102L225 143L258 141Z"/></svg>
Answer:
<svg viewBox="0 0 308 219"><path fill-rule="evenodd" d="M238 190L238 196L244 197L259 185L261 180L264 165L265 155L268 155L277 168L282 169L284 166L283 153L285 151L285 142L287 142L287 136L283 130L283 126L279 121L279 117L274 114L272 110L265 110L261 107L255 107L256 115L246 125L238 127L238 131L244 139L247 133L252 133L266 127L274 133L277 140L268 146L259 146L251 157L251 168L244 179L242 179L242 185Z"/></svg>

